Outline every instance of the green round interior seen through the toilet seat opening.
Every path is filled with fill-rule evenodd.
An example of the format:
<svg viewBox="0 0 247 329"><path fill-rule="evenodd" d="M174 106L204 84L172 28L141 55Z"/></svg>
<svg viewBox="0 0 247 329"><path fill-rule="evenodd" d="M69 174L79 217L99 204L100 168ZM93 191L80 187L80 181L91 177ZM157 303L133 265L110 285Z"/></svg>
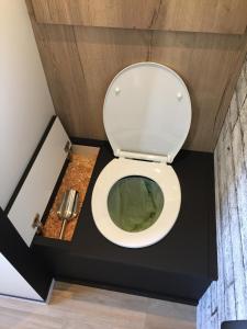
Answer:
<svg viewBox="0 0 247 329"><path fill-rule="evenodd" d="M126 177L110 190L108 209L113 223L121 229L138 232L150 227L164 207L159 185L145 177Z"/></svg>

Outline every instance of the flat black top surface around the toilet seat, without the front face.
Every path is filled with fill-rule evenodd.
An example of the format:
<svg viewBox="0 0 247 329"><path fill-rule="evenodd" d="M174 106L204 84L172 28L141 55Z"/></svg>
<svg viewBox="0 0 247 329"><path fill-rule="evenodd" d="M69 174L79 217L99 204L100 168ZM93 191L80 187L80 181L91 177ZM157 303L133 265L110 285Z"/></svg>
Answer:
<svg viewBox="0 0 247 329"><path fill-rule="evenodd" d="M101 147L85 198L70 252L109 262L122 262L166 272L216 277L215 264L209 268L214 237L213 155L180 151L172 163L181 185L181 208L177 223L159 242L146 248L128 249L106 240L94 225L91 193L101 170L113 159L109 144Z"/></svg>

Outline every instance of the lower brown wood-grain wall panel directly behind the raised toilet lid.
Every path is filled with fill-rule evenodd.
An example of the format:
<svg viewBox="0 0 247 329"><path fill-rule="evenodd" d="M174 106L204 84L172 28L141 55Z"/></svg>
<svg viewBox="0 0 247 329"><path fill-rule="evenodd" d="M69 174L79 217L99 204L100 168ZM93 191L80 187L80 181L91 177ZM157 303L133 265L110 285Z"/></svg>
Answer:
<svg viewBox="0 0 247 329"><path fill-rule="evenodd" d="M55 109L70 135L105 138L102 107L109 83L127 65L150 60L175 69L188 86L193 118L184 147L214 149L246 53L246 34L40 24L26 2Z"/></svg>

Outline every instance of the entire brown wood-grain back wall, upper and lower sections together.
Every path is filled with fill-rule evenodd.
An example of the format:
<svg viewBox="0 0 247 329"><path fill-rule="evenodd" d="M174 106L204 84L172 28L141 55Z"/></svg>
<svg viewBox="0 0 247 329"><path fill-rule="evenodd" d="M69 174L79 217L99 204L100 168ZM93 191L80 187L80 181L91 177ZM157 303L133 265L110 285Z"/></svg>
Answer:
<svg viewBox="0 0 247 329"><path fill-rule="evenodd" d="M188 86L193 118L184 148L214 149L246 54L246 0L26 3L69 135L104 139L109 83L124 67L149 60L171 67Z"/></svg>

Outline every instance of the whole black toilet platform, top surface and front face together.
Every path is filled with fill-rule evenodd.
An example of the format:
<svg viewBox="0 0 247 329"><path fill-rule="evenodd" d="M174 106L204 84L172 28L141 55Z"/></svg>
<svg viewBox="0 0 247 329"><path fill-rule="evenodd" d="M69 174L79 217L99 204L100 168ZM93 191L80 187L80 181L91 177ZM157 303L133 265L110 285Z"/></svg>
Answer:
<svg viewBox="0 0 247 329"><path fill-rule="evenodd" d="M97 141L77 143L98 146ZM154 246L127 249L108 241L92 218L94 182L113 159L108 143L99 146L72 241L35 237L32 248L45 257L57 280L197 304L217 279L213 155L180 151L172 163L182 193L175 227Z"/></svg>

